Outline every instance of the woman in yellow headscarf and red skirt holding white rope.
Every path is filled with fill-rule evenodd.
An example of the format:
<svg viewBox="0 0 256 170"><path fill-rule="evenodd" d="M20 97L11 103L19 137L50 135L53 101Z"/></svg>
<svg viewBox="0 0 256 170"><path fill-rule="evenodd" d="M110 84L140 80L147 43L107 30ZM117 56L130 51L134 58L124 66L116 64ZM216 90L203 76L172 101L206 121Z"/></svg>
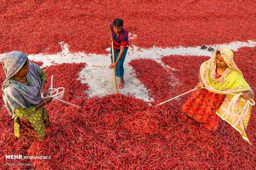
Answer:
<svg viewBox="0 0 256 170"><path fill-rule="evenodd" d="M253 98L253 90L243 78L233 57L234 54L230 49L217 49L211 59L201 64L199 82L196 85L199 90L192 93L192 96L184 103L182 110L189 117L204 123L208 130L217 130L219 117L221 117L249 142L245 130L250 119L251 105L243 115L240 110L246 101ZM220 92L201 89L203 87ZM228 108L234 95L225 92L242 93L234 107L235 113L238 114L234 114Z"/></svg>

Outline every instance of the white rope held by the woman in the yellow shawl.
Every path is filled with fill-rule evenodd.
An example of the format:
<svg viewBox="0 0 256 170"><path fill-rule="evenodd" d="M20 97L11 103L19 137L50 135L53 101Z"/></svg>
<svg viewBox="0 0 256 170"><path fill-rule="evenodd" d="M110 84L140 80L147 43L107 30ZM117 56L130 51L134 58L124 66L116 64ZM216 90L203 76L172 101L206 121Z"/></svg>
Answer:
<svg viewBox="0 0 256 170"><path fill-rule="evenodd" d="M203 89L212 90L212 91L214 91L214 92L220 92L220 93L225 93L225 94L232 94L232 95L234 95L234 97L231 99L231 101L230 101L230 103L229 103L229 106L228 106L228 109L226 110L226 113L224 113L224 114L222 115L222 117L223 117L224 119L226 119L226 118L229 116L230 111L232 111L232 113L233 113L234 115L236 115L237 117L239 117L236 123L234 123L234 118L235 118L235 117L233 118L232 122L234 123L234 126L236 126L237 123L241 120L241 118L242 118L244 115L246 115L246 114L248 113L248 111L249 111L249 109L250 109L250 105L251 105L251 106L255 105L255 101L254 101L252 98L249 99L248 101L245 101L245 99L242 98L242 101L244 101L245 103L243 103L242 109L240 109L239 111L236 112L236 111L235 111L235 108L236 108L236 104L238 104L237 101L238 101L238 99L241 97L241 95L242 95L243 93L234 94L234 93L223 92L223 91L220 91L220 90L216 90L216 89L212 89L212 88L204 88L204 87L203 87ZM179 96L176 96L176 97L174 97L174 98L168 99L167 101L162 102L162 103L159 103L158 105L155 105L155 106L163 105L163 103L166 103L166 102L168 102L168 101L171 101L171 100L173 100L173 99L175 99L175 98L177 98L177 97L183 96L184 94L190 93L190 92L192 92L193 90L196 90L196 88L195 88L195 89L192 89L192 90L189 90L188 92L185 92L185 93L183 93L183 94L180 94ZM230 109L231 109L231 110L230 110ZM224 117L224 115L225 115L225 117Z"/></svg>

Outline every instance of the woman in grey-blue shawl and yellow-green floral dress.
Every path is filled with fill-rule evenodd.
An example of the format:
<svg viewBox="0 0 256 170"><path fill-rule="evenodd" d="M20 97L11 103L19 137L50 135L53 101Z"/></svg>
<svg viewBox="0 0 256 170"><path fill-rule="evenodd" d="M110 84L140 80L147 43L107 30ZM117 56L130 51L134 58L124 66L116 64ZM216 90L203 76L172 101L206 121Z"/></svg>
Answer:
<svg viewBox="0 0 256 170"><path fill-rule="evenodd" d="M2 65L6 74L2 86L3 101L14 118L14 135L19 138L22 134L31 142L42 142L49 126L45 105L52 101L52 98L42 99L40 95L46 95L46 72L30 63L27 55L19 51L4 53Z"/></svg>

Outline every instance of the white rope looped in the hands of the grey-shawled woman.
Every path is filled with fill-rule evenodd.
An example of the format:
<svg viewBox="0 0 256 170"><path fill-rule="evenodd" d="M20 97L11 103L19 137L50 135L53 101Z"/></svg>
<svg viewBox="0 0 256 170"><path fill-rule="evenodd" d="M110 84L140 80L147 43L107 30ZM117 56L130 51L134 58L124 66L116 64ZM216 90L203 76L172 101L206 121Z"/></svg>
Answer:
<svg viewBox="0 0 256 170"><path fill-rule="evenodd" d="M63 100L60 99L60 98L62 98L64 96L64 91L65 91L64 88L57 88L57 89L53 88L53 75L52 75L52 77L51 77L51 86L50 86L50 88L48 90L49 95L44 97L43 93L42 93L41 97L42 97L42 99L45 99L45 98L48 98L48 97L52 97L53 98L52 101L58 100L60 102L67 103L68 105L79 107L79 106L73 105L72 103L69 103L69 102L66 102L66 101L63 101ZM79 107L79 108L81 108L81 107Z"/></svg>

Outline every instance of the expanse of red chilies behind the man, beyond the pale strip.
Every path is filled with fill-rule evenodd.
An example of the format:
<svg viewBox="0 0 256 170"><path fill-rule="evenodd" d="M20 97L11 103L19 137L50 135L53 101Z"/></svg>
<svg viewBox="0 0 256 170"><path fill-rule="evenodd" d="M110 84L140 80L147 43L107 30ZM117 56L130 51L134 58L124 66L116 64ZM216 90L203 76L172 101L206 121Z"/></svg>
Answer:
<svg viewBox="0 0 256 170"><path fill-rule="evenodd" d="M117 17L138 47L247 41L256 32L253 1L3 1L0 14L0 53L57 53L61 41L71 52L106 53Z"/></svg>

